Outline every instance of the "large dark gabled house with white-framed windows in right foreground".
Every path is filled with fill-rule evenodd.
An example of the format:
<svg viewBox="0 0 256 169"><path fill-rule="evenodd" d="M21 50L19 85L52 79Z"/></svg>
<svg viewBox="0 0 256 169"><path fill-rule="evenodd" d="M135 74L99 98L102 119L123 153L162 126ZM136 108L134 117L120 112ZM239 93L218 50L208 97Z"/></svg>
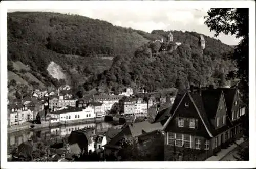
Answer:
<svg viewBox="0 0 256 169"><path fill-rule="evenodd" d="M233 100L235 95L225 97L221 89L179 90L162 128L164 160L203 161L240 137L241 123L229 113Z"/></svg>

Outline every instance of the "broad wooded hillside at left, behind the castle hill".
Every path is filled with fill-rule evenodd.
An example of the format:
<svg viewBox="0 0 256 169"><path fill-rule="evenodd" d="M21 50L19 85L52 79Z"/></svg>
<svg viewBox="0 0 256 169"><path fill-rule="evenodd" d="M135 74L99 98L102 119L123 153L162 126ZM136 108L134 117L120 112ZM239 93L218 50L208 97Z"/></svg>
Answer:
<svg viewBox="0 0 256 169"><path fill-rule="evenodd" d="M57 76L47 71L54 62L65 74L66 82L77 86L109 69L116 55L130 58L139 46L151 40L148 37L154 39L154 35L142 31L79 15L8 13L8 68L17 67L11 61L29 65L44 85L56 86Z"/></svg>

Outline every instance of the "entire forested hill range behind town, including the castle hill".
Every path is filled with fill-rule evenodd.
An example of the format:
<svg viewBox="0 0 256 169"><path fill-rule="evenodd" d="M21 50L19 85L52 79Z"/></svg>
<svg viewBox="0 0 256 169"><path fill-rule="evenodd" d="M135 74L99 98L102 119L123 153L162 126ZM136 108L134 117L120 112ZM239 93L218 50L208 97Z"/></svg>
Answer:
<svg viewBox="0 0 256 169"><path fill-rule="evenodd" d="M122 86L155 90L183 87L196 80L223 83L225 74L234 69L228 60L232 47L204 36L206 48L202 52L198 48L199 34L172 34L180 46L153 43L161 37L166 41L167 32L162 30L146 33L79 15L8 13L8 73L36 87L22 76L29 71L45 86L58 86L59 81L47 71L53 61L74 88L86 82L86 90L102 85L113 90ZM30 69L15 70L11 61L20 61Z"/></svg>

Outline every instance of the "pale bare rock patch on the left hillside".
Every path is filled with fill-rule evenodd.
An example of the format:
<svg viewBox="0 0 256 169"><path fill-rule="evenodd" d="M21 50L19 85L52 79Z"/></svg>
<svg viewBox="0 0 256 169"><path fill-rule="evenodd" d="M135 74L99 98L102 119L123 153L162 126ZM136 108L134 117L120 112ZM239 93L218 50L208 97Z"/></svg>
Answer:
<svg viewBox="0 0 256 169"><path fill-rule="evenodd" d="M66 79L66 75L62 72L61 66L53 61L49 64L47 71L53 78L56 78L58 80Z"/></svg>

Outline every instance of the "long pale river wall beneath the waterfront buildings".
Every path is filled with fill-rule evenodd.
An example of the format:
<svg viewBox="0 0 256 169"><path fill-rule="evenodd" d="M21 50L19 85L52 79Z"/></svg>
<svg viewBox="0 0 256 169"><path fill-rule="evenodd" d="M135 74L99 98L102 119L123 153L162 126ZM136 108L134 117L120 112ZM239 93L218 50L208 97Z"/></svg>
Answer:
<svg viewBox="0 0 256 169"><path fill-rule="evenodd" d="M104 121L104 117L62 121L62 122L57 122L57 123L51 123L50 121L42 121L41 124L32 124L32 123L28 122L24 125L8 127L7 132L13 133L13 132L19 132L19 131L24 131L24 130L29 130L29 129L36 130L36 129L43 129L43 128L51 128L51 127L55 127L55 126L81 124L81 123L88 123L88 122L100 123L102 121ZM31 128L30 127L31 125L34 125L34 127Z"/></svg>

